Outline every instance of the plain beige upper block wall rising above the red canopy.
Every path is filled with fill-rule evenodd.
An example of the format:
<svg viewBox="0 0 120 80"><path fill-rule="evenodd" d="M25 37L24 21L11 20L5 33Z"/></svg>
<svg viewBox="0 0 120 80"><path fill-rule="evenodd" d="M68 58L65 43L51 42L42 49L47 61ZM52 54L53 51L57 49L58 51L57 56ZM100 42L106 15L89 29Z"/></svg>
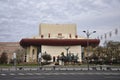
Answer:
<svg viewBox="0 0 120 80"><path fill-rule="evenodd" d="M40 24L39 35L47 34L73 34L76 35L76 25L75 24Z"/></svg>

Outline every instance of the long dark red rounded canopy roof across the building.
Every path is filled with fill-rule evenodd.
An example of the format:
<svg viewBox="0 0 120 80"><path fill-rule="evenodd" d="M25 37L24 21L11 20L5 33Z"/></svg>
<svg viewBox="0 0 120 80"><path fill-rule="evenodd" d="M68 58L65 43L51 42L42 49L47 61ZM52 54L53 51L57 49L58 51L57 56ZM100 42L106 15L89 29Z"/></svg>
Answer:
<svg viewBox="0 0 120 80"><path fill-rule="evenodd" d="M74 46L81 45L83 47L87 46L87 41L89 45L97 46L100 43L99 39L22 39L20 45L27 47L30 45L40 46L40 45L49 45L49 46Z"/></svg>

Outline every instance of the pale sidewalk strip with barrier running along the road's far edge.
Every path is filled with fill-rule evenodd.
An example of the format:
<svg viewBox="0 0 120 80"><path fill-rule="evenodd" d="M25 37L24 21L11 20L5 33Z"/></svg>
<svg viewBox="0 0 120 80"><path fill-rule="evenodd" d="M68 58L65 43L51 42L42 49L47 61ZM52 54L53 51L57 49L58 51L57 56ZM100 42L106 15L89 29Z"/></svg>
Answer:
<svg viewBox="0 0 120 80"><path fill-rule="evenodd" d="M16 71L16 70L88 70L86 66L12 66L12 67L0 67L0 71ZM120 67L113 66L90 66L89 70L112 70L120 71Z"/></svg>

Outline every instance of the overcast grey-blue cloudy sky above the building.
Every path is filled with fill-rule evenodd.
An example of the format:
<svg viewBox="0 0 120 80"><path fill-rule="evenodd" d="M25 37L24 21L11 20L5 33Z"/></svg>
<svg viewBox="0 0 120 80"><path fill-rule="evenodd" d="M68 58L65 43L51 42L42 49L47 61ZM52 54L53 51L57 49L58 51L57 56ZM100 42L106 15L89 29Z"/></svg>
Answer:
<svg viewBox="0 0 120 80"><path fill-rule="evenodd" d="M74 23L80 36L95 30L92 38L111 32L107 40L120 41L120 0L0 0L0 42L38 35L40 23Z"/></svg>

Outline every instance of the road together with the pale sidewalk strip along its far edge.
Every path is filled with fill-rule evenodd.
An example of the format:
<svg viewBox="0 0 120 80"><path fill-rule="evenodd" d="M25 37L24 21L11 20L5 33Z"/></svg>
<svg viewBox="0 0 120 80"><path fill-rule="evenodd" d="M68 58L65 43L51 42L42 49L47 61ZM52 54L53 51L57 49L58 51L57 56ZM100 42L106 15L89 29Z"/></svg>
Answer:
<svg viewBox="0 0 120 80"><path fill-rule="evenodd" d="M120 80L120 67L0 67L0 80Z"/></svg>

